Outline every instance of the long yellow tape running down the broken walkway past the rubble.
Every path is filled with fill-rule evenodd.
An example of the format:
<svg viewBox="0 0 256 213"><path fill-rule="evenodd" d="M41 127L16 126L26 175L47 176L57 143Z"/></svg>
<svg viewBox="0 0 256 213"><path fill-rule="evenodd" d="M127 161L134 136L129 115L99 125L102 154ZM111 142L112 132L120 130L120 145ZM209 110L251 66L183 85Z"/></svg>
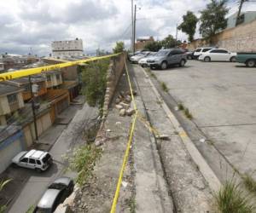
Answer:
<svg viewBox="0 0 256 213"><path fill-rule="evenodd" d="M121 183L122 183L123 176L124 176L125 165L127 163L129 153L130 153L130 149L131 149L131 142L132 142L132 138L133 138L133 134L134 134L134 130L135 130L135 124L136 124L136 121L137 121L137 113L138 113L137 112L137 106L136 106L136 103L135 103L135 100L134 100L133 90L132 90L132 87L131 87L131 80L130 80L130 76L129 76L129 73L128 73L126 61L125 61L125 71L126 71L130 91L131 91L131 101L133 102L133 106L134 106L134 109L136 110L136 113L135 113L135 116L133 117L133 120L132 120L132 123L131 123L131 128L130 128L130 132L129 132L129 140L127 142L127 146L126 146L126 150L125 150L125 156L123 158L123 164L122 164L122 167L121 167L120 172L119 172L119 181L117 183L117 187L116 187L116 190L115 190L115 193L114 193L113 204L112 204L112 207L111 207L111 210L110 210L111 213L115 213L116 205L117 205L117 202L118 202L118 199L119 199L120 187L121 187Z"/></svg>

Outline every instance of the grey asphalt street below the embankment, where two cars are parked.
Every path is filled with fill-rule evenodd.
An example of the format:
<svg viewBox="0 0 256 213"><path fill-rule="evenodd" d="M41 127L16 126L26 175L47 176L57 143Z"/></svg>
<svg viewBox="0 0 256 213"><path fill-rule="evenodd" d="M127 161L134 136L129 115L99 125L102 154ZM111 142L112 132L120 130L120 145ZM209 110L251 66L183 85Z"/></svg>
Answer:
<svg viewBox="0 0 256 213"><path fill-rule="evenodd" d="M67 163L63 156L73 148L73 145L83 142L79 134L81 133L80 130L84 122L96 118L96 115L96 108L88 107L86 104L76 113L72 122L66 130L62 131L60 137L49 151L54 158L54 164L49 170L39 174L36 171L27 170L31 176L26 181L17 199L15 199L15 203L9 209L9 213L25 213L30 206L37 204L38 199L40 199L49 184L61 176L64 169L67 168ZM23 168L19 169L26 170ZM65 176L73 177L75 174L73 172L67 172Z"/></svg>

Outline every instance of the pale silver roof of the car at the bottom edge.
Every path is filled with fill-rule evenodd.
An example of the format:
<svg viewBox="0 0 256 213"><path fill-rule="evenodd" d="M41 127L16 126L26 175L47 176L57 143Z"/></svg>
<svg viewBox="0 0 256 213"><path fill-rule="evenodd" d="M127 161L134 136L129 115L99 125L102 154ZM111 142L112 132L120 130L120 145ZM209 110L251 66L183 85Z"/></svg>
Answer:
<svg viewBox="0 0 256 213"><path fill-rule="evenodd" d="M38 207L42 209L49 209L53 206L55 199L61 193L61 190L49 188L38 202Z"/></svg>

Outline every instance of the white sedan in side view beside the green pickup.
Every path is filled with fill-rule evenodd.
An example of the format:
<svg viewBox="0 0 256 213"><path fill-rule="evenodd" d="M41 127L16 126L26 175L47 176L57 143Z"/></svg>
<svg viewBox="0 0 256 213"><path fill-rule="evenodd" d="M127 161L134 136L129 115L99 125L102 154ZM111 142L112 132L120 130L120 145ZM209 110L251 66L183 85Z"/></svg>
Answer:
<svg viewBox="0 0 256 213"><path fill-rule="evenodd" d="M199 56L198 60L210 61L231 61L236 62L236 53L226 49L211 49Z"/></svg>

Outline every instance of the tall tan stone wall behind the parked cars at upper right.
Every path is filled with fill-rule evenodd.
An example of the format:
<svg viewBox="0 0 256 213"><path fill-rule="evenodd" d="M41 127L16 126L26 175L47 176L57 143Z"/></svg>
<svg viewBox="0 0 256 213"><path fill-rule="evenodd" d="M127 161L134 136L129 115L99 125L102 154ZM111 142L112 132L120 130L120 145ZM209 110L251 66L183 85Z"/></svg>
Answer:
<svg viewBox="0 0 256 213"><path fill-rule="evenodd" d="M219 32L212 37L212 43L208 43L206 39L197 39L189 43L188 48L195 49L209 45L233 52L256 51L256 20Z"/></svg>

